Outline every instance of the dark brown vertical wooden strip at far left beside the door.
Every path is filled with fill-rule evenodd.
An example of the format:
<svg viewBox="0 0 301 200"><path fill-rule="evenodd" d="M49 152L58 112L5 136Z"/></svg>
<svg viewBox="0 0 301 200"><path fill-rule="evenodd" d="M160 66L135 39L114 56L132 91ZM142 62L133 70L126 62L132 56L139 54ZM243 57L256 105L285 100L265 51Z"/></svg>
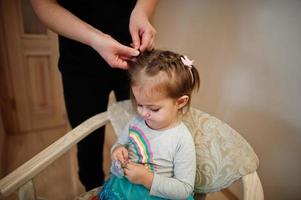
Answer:
<svg viewBox="0 0 301 200"><path fill-rule="evenodd" d="M16 99L23 97L25 94L22 84L20 86L15 84L18 80L22 80L19 75L22 74L22 70L19 70L21 55L20 55L20 26L18 23L18 3L12 1L0 1L1 18L3 22L3 39L5 43L1 43L4 46L4 72L3 79L7 90L1 90L1 98L5 112L3 112L4 126L9 132L17 132L19 129L18 118L20 113L26 113L26 106L19 106ZM2 78L2 77L1 77ZM11 103L10 103L11 102ZM26 104L25 102L23 105ZM10 114L12 113L12 115ZM28 116L24 116L24 122L26 123Z"/></svg>

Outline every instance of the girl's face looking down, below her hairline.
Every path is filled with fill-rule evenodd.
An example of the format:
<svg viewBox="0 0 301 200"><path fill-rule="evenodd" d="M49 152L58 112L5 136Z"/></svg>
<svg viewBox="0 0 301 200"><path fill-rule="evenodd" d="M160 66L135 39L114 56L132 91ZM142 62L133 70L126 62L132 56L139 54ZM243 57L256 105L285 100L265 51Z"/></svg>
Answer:
<svg viewBox="0 0 301 200"><path fill-rule="evenodd" d="M152 92L150 95L137 86L132 87L132 92L137 102L138 114L150 128L165 130L178 123L179 105L176 100L159 92Z"/></svg>

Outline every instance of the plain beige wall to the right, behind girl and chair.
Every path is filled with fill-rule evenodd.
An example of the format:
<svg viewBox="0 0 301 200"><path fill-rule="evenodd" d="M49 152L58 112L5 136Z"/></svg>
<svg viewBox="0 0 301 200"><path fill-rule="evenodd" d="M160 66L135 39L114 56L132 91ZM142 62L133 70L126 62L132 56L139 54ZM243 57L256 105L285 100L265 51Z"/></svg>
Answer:
<svg viewBox="0 0 301 200"><path fill-rule="evenodd" d="M253 146L265 198L301 196L301 1L161 0L157 47L195 60L193 105Z"/></svg>

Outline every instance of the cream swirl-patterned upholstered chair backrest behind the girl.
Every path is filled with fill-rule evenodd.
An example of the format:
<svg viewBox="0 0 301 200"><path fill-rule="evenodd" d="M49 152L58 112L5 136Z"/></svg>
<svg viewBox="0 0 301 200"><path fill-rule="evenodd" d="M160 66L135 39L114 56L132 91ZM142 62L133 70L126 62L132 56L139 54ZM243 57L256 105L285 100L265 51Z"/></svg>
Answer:
<svg viewBox="0 0 301 200"><path fill-rule="evenodd" d="M131 102L126 100L112 104L108 114L119 135L135 113ZM183 121L195 142L195 192L219 191L257 169L259 161L252 147L226 123L195 108L190 109Z"/></svg>

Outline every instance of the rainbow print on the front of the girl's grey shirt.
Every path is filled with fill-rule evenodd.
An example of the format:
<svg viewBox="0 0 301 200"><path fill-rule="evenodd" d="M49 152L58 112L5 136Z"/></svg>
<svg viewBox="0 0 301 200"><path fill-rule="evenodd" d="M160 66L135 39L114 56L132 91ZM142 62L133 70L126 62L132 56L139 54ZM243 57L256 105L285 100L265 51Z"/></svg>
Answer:
<svg viewBox="0 0 301 200"><path fill-rule="evenodd" d="M147 139L145 134L136 126L130 126L129 131L129 142L134 147L136 155L138 156L138 162L146 164L148 168L153 172L153 152L149 140Z"/></svg>

